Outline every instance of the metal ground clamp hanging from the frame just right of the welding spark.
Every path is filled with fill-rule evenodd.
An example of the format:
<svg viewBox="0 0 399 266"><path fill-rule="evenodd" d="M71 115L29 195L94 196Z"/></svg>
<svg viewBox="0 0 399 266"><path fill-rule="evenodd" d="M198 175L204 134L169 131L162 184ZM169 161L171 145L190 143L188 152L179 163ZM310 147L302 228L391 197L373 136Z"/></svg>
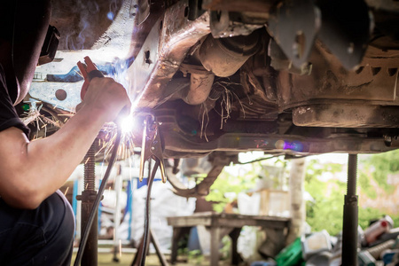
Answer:
<svg viewBox="0 0 399 266"><path fill-rule="evenodd" d="M159 162L160 177L163 183L166 183L165 164L163 161L163 147L160 139L160 129L158 121L153 119L153 116L147 115L144 121L143 140L141 146L140 158L140 182L144 177L145 160L153 159Z"/></svg>

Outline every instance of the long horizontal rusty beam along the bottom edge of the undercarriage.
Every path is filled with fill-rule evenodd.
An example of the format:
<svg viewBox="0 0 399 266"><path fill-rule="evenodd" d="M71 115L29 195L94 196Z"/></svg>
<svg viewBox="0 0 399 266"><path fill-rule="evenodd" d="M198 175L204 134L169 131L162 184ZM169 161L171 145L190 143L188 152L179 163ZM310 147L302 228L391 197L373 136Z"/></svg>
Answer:
<svg viewBox="0 0 399 266"><path fill-rule="evenodd" d="M165 157L175 158L181 154L206 154L212 151L243 152L262 151L309 155L320 153L381 153L393 150L383 138L333 137L315 138L280 134L226 133L209 142L198 137L184 137L176 131L166 129ZM301 148L300 148L301 147Z"/></svg>

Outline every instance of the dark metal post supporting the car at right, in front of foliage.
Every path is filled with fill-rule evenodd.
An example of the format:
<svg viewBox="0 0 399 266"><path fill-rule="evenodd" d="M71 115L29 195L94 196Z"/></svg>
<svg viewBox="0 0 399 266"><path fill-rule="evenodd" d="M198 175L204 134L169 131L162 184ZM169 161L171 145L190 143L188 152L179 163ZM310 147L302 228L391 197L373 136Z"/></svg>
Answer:
<svg viewBox="0 0 399 266"><path fill-rule="evenodd" d="M342 225L342 266L357 265L357 154L348 154L348 184Z"/></svg>

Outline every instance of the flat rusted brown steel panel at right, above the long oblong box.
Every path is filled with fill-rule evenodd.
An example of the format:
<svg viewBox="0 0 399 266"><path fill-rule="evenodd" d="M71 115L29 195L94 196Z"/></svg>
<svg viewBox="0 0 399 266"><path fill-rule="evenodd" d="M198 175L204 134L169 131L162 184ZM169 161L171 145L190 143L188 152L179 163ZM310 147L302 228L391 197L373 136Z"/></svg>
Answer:
<svg viewBox="0 0 399 266"><path fill-rule="evenodd" d="M396 51L379 52L370 47L356 71L348 71L317 42L310 61L313 67L309 75L287 71L278 74L280 110L305 104L325 104L325 100L342 104L357 100L362 101L359 104L399 105Z"/></svg>

